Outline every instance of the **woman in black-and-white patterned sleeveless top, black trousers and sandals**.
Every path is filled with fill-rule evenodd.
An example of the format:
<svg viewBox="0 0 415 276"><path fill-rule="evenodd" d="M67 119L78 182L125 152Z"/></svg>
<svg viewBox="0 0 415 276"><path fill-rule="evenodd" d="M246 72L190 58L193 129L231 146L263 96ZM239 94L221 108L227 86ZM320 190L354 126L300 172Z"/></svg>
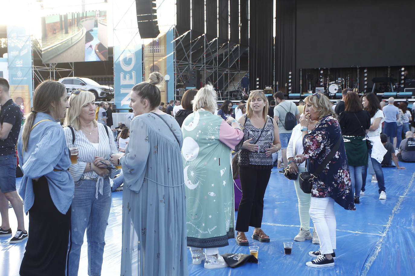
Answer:
<svg viewBox="0 0 415 276"><path fill-rule="evenodd" d="M236 151L249 150L249 165L239 170L242 199L239 204L236 223L238 245L248 245L245 232L249 226L255 227L252 238L269 242L261 229L264 210L264 194L272 168L272 154L281 149L278 125L268 115L268 101L264 91L251 91L248 98L247 114L238 122L244 126L244 138Z"/></svg>

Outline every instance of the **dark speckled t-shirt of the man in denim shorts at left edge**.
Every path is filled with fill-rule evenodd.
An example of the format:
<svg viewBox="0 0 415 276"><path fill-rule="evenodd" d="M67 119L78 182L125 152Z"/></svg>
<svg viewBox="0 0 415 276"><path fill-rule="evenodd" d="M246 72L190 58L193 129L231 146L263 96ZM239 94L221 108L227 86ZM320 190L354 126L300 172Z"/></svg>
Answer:
<svg viewBox="0 0 415 276"><path fill-rule="evenodd" d="M2 106L0 122L1 124L7 122L13 125L7 138L0 140L0 156L16 154L15 145L19 138L20 127L22 126L22 111L12 99Z"/></svg>

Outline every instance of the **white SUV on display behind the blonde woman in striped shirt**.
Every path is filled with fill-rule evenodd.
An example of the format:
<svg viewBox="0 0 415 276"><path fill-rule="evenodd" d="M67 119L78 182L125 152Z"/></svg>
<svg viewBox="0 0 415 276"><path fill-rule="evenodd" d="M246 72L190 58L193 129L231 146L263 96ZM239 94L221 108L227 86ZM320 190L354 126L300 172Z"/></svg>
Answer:
<svg viewBox="0 0 415 276"><path fill-rule="evenodd" d="M95 95L95 101L110 101L114 98L114 88L107 85L100 85L92 79L82 77L66 77L59 79L58 82L65 85L68 96L71 95L73 90L82 87L88 91L91 91Z"/></svg>

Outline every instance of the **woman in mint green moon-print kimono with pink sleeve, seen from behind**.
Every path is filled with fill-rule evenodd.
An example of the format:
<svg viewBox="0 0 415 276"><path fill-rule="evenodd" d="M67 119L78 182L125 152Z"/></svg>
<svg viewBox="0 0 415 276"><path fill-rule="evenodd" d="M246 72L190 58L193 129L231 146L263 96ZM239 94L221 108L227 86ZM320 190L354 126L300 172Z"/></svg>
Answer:
<svg viewBox="0 0 415 276"><path fill-rule="evenodd" d="M200 264L206 249L205 268L226 266L218 247L234 238L234 197L231 151L243 132L237 120L213 115L216 92L200 89L193 113L182 125L183 175L186 185L187 245L193 264Z"/></svg>

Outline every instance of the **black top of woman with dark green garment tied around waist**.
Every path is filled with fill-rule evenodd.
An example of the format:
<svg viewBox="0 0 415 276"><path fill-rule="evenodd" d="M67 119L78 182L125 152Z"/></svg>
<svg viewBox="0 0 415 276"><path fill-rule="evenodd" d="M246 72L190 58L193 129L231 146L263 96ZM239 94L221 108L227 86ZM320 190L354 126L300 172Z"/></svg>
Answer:
<svg viewBox="0 0 415 276"><path fill-rule="evenodd" d="M356 118L357 117L357 118ZM356 113L343 111L339 116L339 124L343 135L364 136L370 127L370 115L366 110ZM364 130L362 130L362 127Z"/></svg>

